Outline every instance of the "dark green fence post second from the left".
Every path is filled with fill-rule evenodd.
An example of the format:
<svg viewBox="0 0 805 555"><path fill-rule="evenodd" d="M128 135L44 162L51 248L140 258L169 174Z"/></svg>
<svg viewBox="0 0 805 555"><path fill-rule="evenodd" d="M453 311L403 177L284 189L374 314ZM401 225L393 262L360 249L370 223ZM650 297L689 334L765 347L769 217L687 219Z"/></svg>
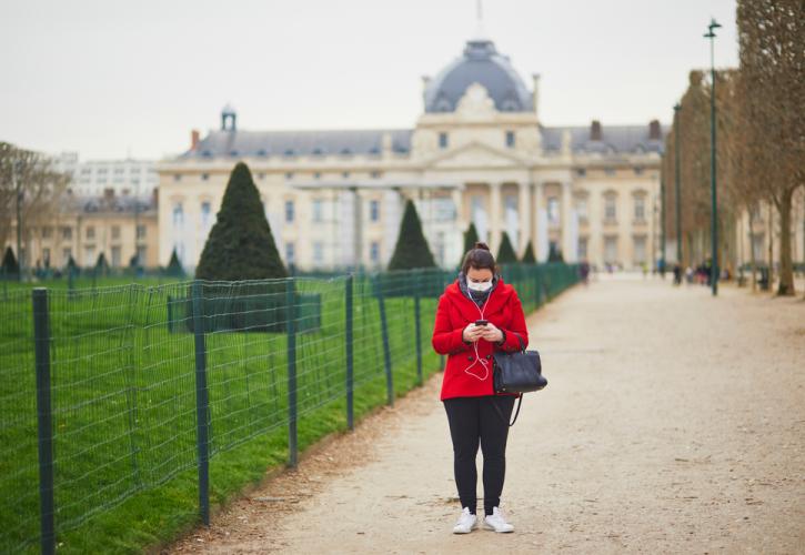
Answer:
<svg viewBox="0 0 805 555"><path fill-rule="evenodd" d="M194 280L193 335L195 340L195 437L199 460L199 508L204 525L210 525L210 450L209 450L209 396L207 390L207 341L204 336L204 299L201 282Z"/></svg>

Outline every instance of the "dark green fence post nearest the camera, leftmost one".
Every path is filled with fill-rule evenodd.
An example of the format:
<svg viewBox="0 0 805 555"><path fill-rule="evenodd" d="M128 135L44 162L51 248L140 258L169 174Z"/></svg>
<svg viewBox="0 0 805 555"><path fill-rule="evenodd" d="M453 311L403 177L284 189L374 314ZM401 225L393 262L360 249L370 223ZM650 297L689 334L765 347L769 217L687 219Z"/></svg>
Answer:
<svg viewBox="0 0 805 555"><path fill-rule="evenodd" d="M53 413L50 402L50 317L48 290L32 291L33 347L37 369L37 423L39 440L39 522L43 554L56 553L53 504Z"/></svg>

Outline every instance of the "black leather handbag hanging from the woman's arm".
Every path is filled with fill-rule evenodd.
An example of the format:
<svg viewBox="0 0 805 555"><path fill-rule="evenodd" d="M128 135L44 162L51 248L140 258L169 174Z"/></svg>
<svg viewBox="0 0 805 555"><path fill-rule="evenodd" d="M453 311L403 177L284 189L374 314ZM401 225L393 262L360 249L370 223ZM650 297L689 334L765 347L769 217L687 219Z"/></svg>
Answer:
<svg viewBox="0 0 805 555"><path fill-rule="evenodd" d="M526 351L523 337L516 333L514 335L520 341L520 351L514 353L495 351L492 354L494 360L492 383L495 393L520 393L517 412L514 414L514 420L509 424L510 426L513 426L517 421L520 405L523 403L523 393L540 391L547 385L547 380L542 375L540 353ZM501 417L504 417L500 407L496 404L494 406Z"/></svg>

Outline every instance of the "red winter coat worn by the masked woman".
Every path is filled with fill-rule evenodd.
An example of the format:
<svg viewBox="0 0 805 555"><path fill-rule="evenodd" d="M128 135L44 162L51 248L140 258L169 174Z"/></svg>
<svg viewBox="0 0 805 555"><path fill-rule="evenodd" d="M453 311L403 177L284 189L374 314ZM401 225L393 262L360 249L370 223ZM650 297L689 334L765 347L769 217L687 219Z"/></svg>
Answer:
<svg viewBox="0 0 805 555"><path fill-rule="evenodd" d="M499 346L484 339L470 344L464 342L462 337L464 327L480 319L489 320L505 332L503 345ZM492 385L494 362L492 353L500 350L519 351L520 342L515 333L527 346L529 330L525 327L523 305L514 287L503 283L502 278L499 276L497 284L481 306L461 292L457 279L447 285L444 294L439 297L436 322L431 340L436 353L449 355L440 400L495 395Z"/></svg>

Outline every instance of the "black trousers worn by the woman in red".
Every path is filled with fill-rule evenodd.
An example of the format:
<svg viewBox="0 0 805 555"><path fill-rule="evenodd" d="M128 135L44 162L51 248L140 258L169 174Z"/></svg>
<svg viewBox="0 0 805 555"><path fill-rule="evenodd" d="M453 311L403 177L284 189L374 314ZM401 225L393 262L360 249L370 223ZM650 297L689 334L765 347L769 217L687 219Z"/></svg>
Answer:
<svg viewBox="0 0 805 555"><path fill-rule="evenodd" d="M473 514L477 504L475 456L479 442L484 457L484 512L490 515L492 507L500 505L506 473L509 422L515 400L514 395L444 400L450 436L453 440L453 472L459 498L461 506L470 507ZM505 420L495 411L493 404L497 405Z"/></svg>

